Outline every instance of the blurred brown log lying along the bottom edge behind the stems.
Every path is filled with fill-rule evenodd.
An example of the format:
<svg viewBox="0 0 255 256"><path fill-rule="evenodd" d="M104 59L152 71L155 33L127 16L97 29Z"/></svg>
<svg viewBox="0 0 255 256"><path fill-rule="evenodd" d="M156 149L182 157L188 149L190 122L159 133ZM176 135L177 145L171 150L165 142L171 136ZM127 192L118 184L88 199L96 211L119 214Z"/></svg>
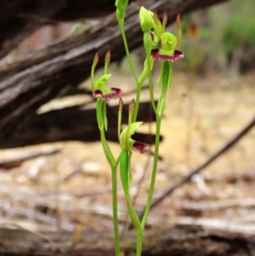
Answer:
<svg viewBox="0 0 255 256"><path fill-rule="evenodd" d="M76 237L77 238L77 237ZM0 230L2 255L114 255L112 233L82 232L75 242L71 232ZM135 237L129 231L122 238L123 254L133 255ZM251 256L254 236L231 231L212 230L199 225L176 225L168 230L144 232L143 256Z"/></svg>

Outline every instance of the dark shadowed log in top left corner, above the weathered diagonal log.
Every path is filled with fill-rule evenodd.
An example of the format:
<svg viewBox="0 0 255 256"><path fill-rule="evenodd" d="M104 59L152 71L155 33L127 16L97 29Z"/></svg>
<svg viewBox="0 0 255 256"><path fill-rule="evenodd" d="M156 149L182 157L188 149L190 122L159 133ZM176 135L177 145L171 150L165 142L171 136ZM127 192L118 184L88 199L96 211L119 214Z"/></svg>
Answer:
<svg viewBox="0 0 255 256"><path fill-rule="evenodd" d="M40 26L103 17L115 10L115 0L0 0L0 5L0 59Z"/></svg>

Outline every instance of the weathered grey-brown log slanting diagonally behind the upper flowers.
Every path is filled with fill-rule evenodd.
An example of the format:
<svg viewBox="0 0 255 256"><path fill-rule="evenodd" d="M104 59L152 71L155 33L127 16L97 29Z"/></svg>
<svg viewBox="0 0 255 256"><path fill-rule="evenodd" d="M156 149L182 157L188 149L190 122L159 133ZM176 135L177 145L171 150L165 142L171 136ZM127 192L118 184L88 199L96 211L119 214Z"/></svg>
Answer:
<svg viewBox="0 0 255 256"><path fill-rule="evenodd" d="M166 10L171 22L175 20L177 13L185 14L224 1L150 0L145 5L159 14ZM59 1L55 2L56 5L59 3ZM51 5L51 8L54 6ZM130 3L127 8L126 32L131 49L142 43L138 12L139 4ZM94 26L78 37L69 38L64 42L27 54L17 60L18 65L1 63L0 141L11 139L17 125L28 117L34 117L37 108L54 99L65 86L76 87L87 78L96 52L101 56L99 66L102 66L104 61L102 57L109 49L111 49L112 60L121 60L124 56L122 37L115 14L101 20L99 26Z"/></svg>

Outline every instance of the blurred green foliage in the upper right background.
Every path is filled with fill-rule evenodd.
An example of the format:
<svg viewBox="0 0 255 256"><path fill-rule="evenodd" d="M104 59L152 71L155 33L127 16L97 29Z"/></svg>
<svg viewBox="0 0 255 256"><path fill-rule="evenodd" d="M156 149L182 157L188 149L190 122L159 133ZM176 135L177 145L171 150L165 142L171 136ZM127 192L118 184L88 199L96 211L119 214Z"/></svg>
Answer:
<svg viewBox="0 0 255 256"><path fill-rule="evenodd" d="M183 17L182 50L185 58L178 63L178 68L202 74L203 71L207 71L207 66L216 65L224 71L229 54L232 54L240 44L245 46L247 58L254 56L254 6L255 0L230 0L224 4L215 5L207 10L206 24L202 22L207 15L203 10ZM193 37L187 33L191 24L197 26Z"/></svg>

